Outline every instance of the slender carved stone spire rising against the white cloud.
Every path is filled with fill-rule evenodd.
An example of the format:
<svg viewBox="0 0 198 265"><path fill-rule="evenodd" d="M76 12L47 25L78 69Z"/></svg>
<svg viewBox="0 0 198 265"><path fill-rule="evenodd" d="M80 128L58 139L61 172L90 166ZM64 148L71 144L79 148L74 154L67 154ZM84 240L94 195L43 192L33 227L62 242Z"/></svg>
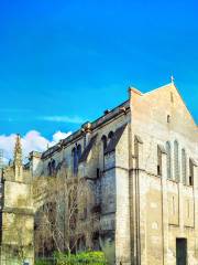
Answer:
<svg viewBox="0 0 198 265"><path fill-rule="evenodd" d="M18 134L14 147L14 171L16 181L22 181L22 168L21 136Z"/></svg>

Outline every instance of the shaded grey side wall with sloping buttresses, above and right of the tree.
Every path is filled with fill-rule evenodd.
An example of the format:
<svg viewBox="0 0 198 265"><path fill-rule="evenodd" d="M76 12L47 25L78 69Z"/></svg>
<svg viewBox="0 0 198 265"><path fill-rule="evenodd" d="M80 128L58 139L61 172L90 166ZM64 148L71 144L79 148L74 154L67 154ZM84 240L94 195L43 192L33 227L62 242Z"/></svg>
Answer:
<svg viewBox="0 0 198 265"><path fill-rule="evenodd" d="M101 120L102 119L103 117L101 118ZM119 157L121 158L121 156L116 155L114 151L107 155L103 153L103 144L101 138L102 136L107 136L108 138L110 131L114 132L118 128L127 124L129 120L130 120L129 110L128 113L123 113L122 110L120 110L114 118L108 120L107 123L101 124L101 126L94 128L91 131L88 131L86 134L84 130L81 131L81 134L76 132L75 134L77 136L76 138L75 136L72 137L66 146L63 145L61 148L56 149L56 151L52 153L51 150L48 150L50 155L46 156L45 158L43 158L43 155L41 155L40 158L38 156L32 156L31 161L32 176L34 178L47 177L48 176L47 166L52 160L55 160L56 165L63 163L66 179L86 178L87 181L90 182L90 187L92 187L95 192L94 206L99 206L101 211L99 244L101 250L105 253L107 253L108 259L110 261L111 264L114 263L116 259L114 235L116 235L117 192L119 184L117 183L116 187L116 181L118 181L117 174L119 173L116 169L117 167L116 163L118 162L119 165L122 165L123 161L125 162L125 157L128 157L128 130L127 132L124 132L122 145L119 147L119 153L122 153L124 151L125 156L121 160L119 159ZM99 121L97 121L97 124L99 124ZM72 156L73 149L80 145L84 153L84 150L87 148L89 141L94 136L97 136L96 142L91 146L91 149L86 160L79 162L77 176L74 176L73 172L74 157ZM110 139L108 139L108 142L109 141ZM116 157L118 161L116 161ZM56 176L58 177L59 173L61 172L57 171ZM123 172L120 172L119 174L122 176ZM37 205L41 206L41 202ZM89 211L87 211L87 213ZM121 213L119 213L119 216L121 218Z"/></svg>

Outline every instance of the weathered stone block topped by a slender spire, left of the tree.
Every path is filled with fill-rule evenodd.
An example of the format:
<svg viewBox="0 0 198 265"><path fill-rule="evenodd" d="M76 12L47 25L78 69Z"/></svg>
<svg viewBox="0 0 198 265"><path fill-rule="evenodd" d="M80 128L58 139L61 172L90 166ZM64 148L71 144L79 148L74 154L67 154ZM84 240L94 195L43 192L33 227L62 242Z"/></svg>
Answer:
<svg viewBox="0 0 198 265"><path fill-rule="evenodd" d="M14 160L0 178L0 264L34 264L34 211L30 171L23 169L20 136Z"/></svg>

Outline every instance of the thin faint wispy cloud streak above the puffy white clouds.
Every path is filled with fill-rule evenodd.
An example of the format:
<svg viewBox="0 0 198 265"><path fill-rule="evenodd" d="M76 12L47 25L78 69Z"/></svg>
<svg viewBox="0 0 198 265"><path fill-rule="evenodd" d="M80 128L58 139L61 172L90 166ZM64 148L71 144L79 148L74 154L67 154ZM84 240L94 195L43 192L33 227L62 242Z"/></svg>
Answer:
<svg viewBox="0 0 198 265"><path fill-rule="evenodd" d="M85 119L74 116L74 117L68 117L68 116L42 116L38 117L41 120L46 120L46 121L52 121L52 123L68 123L68 124L82 124L85 123Z"/></svg>

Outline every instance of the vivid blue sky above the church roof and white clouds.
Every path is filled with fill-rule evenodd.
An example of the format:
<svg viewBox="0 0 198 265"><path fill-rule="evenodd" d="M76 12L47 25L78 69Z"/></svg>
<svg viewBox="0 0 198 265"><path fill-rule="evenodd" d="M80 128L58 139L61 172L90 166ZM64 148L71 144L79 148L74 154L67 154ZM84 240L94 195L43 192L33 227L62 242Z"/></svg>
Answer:
<svg viewBox="0 0 198 265"><path fill-rule="evenodd" d="M172 73L198 121L196 1L0 3L0 135L77 129Z"/></svg>

